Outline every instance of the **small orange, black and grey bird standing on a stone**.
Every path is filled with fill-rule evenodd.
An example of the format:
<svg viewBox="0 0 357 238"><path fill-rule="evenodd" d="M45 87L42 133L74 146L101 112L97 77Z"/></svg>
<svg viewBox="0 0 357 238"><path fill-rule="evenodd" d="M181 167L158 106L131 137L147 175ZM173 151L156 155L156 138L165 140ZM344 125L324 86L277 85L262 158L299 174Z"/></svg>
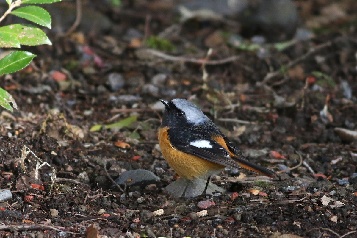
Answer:
<svg viewBox="0 0 357 238"><path fill-rule="evenodd" d="M275 172L247 161L241 151L192 102L185 99L160 100L165 105L159 129L162 156L175 172L190 181L207 177L206 194L212 174L225 167L245 168L273 177Z"/></svg>

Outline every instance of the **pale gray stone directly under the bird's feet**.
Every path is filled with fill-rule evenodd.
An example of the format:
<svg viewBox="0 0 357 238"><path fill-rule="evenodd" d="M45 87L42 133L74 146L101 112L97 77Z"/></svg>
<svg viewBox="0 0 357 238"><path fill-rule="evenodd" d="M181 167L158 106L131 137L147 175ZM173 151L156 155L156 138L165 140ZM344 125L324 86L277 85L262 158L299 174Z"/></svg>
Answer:
<svg viewBox="0 0 357 238"><path fill-rule="evenodd" d="M197 178L194 181L188 184L186 189L185 198L197 197L202 194L205 189L207 179L206 178ZM176 181L170 183L165 190L170 194L174 195L175 198L180 198L183 191L186 188L187 180L184 178L179 178ZM218 187L216 184L209 183L207 187L207 194L212 194L214 192L225 192L225 189Z"/></svg>

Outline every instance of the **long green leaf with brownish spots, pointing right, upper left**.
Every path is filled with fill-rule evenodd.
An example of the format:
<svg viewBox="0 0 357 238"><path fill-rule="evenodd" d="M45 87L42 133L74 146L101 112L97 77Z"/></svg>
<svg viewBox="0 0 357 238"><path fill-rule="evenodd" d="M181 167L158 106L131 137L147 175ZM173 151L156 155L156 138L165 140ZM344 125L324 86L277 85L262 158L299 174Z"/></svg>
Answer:
<svg viewBox="0 0 357 238"><path fill-rule="evenodd" d="M0 35L11 34L19 40L21 45L52 45L45 32L32 25L14 24L0 27Z"/></svg>

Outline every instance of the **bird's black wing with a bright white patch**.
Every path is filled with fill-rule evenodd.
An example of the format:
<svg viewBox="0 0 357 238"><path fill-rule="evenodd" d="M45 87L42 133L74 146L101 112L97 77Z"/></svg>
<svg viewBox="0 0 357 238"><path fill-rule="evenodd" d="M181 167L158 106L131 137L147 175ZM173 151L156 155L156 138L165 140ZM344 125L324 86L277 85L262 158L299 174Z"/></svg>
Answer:
<svg viewBox="0 0 357 238"><path fill-rule="evenodd" d="M177 150L226 167L240 168L226 148L210 138L210 132L212 128L202 126L167 130L171 145Z"/></svg>

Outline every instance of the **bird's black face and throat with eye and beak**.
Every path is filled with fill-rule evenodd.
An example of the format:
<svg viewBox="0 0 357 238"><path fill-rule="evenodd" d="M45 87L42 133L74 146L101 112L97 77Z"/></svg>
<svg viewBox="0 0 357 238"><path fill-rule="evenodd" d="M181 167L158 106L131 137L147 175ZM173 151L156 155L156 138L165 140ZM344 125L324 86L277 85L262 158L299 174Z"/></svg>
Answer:
<svg viewBox="0 0 357 238"><path fill-rule="evenodd" d="M162 116L161 127L176 128L192 124L187 120L185 112L177 108L172 101L160 101L164 103L166 107L164 115Z"/></svg>

